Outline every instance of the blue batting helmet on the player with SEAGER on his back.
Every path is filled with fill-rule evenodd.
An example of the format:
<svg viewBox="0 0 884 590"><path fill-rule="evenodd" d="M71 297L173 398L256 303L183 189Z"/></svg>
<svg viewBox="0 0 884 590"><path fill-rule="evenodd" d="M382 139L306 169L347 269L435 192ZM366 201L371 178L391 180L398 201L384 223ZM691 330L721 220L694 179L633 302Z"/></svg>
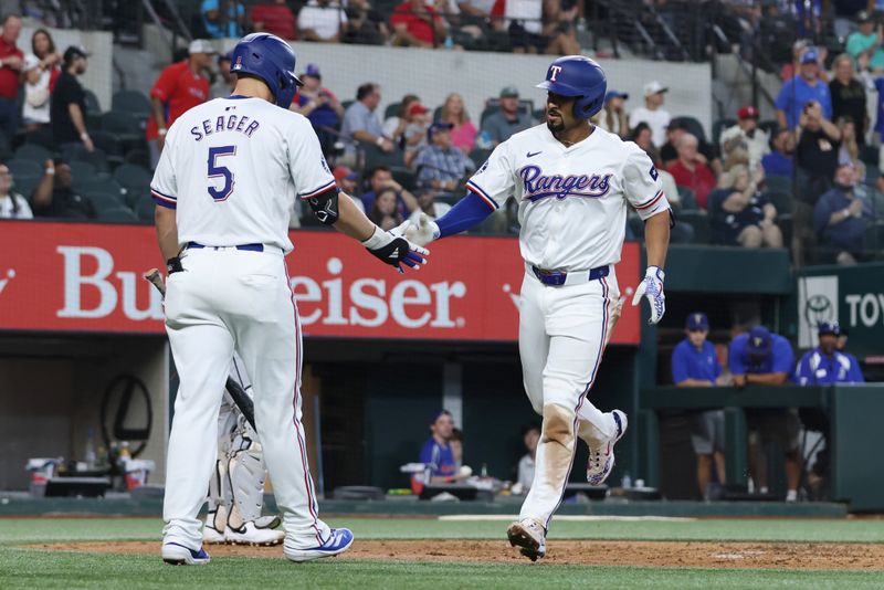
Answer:
<svg viewBox="0 0 884 590"><path fill-rule="evenodd" d="M283 108L288 108L302 85L295 75L295 52L288 43L270 33L242 38L231 53L230 71L263 80Z"/></svg>

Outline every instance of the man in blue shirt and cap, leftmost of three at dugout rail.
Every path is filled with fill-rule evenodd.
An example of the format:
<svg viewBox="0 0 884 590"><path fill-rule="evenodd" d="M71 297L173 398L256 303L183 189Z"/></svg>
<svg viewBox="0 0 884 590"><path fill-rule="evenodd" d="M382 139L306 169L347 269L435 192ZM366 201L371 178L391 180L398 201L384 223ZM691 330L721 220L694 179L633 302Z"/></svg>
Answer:
<svg viewBox="0 0 884 590"><path fill-rule="evenodd" d="M709 334L709 319L706 314L693 313L685 323L686 337L672 351L672 381L677 387L713 387L722 384L722 365L715 354L715 346L706 339ZM697 455L697 485L699 495L706 495L709 485L713 460L718 483L725 483L723 410L699 412L694 417L691 429L691 444Z"/></svg>

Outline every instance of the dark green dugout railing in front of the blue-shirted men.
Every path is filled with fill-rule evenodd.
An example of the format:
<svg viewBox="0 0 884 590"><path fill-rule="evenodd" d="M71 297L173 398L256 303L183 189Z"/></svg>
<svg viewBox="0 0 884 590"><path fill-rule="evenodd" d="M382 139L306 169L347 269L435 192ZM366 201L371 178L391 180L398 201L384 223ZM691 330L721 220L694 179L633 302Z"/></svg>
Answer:
<svg viewBox="0 0 884 590"><path fill-rule="evenodd" d="M818 408L829 417L830 489L851 510L884 510L884 383L825 387L656 387L640 393L639 424L650 485L660 484L660 412L724 409L728 483L747 481L746 410Z"/></svg>

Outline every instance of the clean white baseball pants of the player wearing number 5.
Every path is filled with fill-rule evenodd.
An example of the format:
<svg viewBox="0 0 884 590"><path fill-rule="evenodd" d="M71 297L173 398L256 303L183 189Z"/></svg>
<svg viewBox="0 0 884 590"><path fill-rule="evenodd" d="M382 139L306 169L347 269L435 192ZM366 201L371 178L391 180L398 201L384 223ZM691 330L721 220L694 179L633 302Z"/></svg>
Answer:
<svg viewBox="0 0 884 590"><path fill-rule="evenodd" d="M301 424L303 346L282 251L189 249L169 276L166 330L180 377L169 436L164 541L202 544L197 518L218 445L218 413L234 349L252 378L255 425L283 513L285 547L328 538L318 517Z"/></svg>

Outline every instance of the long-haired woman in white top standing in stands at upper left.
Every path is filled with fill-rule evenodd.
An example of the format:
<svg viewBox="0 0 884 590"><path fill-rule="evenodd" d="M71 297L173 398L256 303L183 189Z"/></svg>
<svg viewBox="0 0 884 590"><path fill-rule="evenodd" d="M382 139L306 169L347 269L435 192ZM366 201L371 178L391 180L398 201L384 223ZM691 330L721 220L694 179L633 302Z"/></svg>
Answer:
<svg viewBox="0 0 884 590"><path fill-rule="evenodd" d="M55 51L55 42L45 29L38 29L31 36L31 51L24 57L24 103L22 119L28 131L49 125L49 103L55 81L62 71L62 56Z"/></svg>

